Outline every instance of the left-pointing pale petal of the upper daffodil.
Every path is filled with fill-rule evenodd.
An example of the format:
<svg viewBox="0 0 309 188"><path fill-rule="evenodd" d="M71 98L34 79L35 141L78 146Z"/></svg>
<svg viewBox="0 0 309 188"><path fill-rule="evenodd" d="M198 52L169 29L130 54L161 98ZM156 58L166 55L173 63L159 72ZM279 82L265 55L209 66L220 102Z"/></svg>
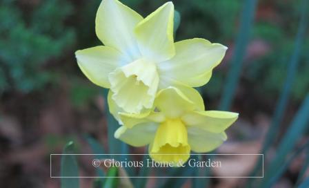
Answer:
<svg viewBox="0 0 309 188"><path fill-rule="evenodd" d="M96 46L75 53L81 71L88 79L98 86L110 88L108 74L114 71L123 59L119 51L108 46Z"/></svg>

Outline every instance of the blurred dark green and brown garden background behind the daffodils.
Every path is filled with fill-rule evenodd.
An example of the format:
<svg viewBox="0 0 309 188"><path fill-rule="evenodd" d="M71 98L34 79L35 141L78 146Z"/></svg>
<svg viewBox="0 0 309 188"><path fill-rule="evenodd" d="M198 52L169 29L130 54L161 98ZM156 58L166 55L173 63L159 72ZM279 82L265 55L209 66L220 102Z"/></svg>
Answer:
<svg viewBox="0 0 309 188"><path fill-rule="evenodd" d="M175 41L201 37L229 47L210 82L199 88L206 109L240 113L216 152L266 154L266 182L184 179L179 187L293 187L309 176L306 1L173 1L181 15ZM76 50L101 45L94 32L100 2L0 1L0 187L60 187L50 178L50 153L61 153L70 140L78 153L92 152L90 139L112 150L106 91L81 73L74 57ZM166 1L121 2L146 17ZM254 173L257 161L247 163L232 173ZM79 180L80 187L92 182Z"/></svg>

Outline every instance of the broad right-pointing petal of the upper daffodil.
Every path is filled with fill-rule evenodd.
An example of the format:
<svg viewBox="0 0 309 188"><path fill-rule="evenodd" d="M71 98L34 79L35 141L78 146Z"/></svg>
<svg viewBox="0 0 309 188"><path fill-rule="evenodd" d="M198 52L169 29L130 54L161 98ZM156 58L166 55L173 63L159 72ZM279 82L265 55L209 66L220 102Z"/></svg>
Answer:
<svg viewBox="0 0 309 188"><path fill-rule="evenodd" d="M207 73L221 62L227 50L226 46L198 38L176 42L175 49L172 59L158 64L159 72L194 87L209 80Z"/></svg>

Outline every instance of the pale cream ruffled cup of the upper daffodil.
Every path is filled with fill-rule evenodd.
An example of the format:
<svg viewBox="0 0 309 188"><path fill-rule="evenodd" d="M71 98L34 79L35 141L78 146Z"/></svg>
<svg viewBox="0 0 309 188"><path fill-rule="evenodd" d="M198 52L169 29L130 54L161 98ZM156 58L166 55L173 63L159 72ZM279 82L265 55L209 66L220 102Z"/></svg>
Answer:
<svg viewBox="0 0 309 188"><path fill-rule="evenodd" d="M108 76L112 99L128 113L140 113L150 109L159 84L159 75L155 64L145 59L118 68Z"/></svg>

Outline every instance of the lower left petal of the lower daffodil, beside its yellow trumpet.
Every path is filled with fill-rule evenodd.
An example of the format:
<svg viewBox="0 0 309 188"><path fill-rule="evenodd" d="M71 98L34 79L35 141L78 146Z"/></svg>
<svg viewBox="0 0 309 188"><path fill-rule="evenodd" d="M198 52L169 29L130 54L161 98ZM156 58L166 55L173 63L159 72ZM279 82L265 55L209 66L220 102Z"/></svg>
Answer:
<svg viewBox="0 0 309 188"><path fill-rule="evenodd" d="M146 123L133 126L131 129L127 126L121 126L114 133L114 138L117 138L133 147L143 147L150 144L155 138L157 124Z"/></svg>

